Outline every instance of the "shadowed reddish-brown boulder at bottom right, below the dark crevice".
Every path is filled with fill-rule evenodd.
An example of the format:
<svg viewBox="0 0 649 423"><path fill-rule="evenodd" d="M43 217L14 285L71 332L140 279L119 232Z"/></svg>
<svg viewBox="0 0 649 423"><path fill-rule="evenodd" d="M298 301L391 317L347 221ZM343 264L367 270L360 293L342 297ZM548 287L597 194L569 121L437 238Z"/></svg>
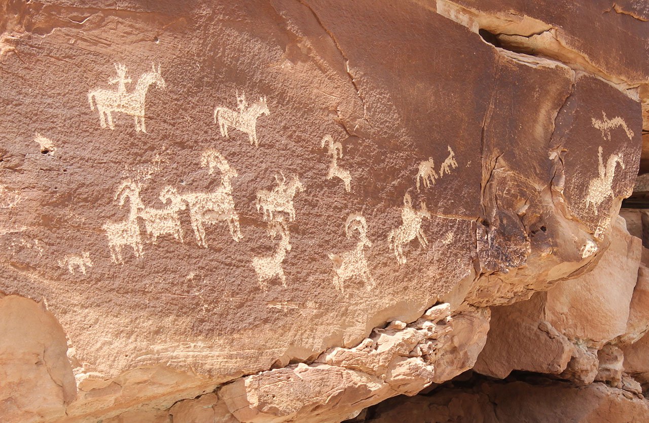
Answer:
<svg viewBox="0 0 649 423"><path fill-rule="evenodd" d="M449 387L430 396L393 398L367 412L363 422L644 422L649 402L593 383L575 387L550 380L482 382L473 389Z"/></svg>

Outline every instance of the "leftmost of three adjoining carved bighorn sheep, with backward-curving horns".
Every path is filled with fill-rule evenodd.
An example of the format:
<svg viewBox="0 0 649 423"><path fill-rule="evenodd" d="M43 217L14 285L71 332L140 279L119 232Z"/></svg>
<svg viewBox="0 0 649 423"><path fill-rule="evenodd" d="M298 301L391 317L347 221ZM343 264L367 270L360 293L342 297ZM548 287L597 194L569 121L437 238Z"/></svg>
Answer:
<svg viewBox="0 0 649 423"><path fill-rule="evenodd" d="M138 225L138 205L140 205L140 191L136 184L131 181L124 181L115 194L119 197L119 206L123 206L129 198L129 217L123 222L106 222L102 226L108 236L108 249L114 263L123 264L121 250L124 246L130 246L136 258L142 257L142 240L140 237L140 225Z"/></svg>

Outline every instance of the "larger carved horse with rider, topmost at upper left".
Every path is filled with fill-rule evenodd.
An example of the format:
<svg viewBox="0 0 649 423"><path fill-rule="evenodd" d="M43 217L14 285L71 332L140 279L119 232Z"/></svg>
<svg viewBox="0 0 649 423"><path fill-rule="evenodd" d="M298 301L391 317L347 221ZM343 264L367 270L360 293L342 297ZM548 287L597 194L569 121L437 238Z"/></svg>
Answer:
<svg viewBox="0 0 649 423"><path fill-rule="evenodd" d="M155 69L151 65L151 71L143 73L138 79L135 88L130 93L126 90L126 84L130 83L130 78L127 78L127 67L116 63L115 70L117 71L117 78L109 80L109 84L118 84L117 91L111 89L97 88L88 92L88 102L90 102L90 109L94 110L93 98L97 104L97 111L99 111L99 124L102 128L106 128L106 120L108 120L108 128L114 130L112 112L125 113L135 119L135 130L146 132L147 128L144 124L144 105L147 90L151 84L156 84L156 87L164 89L167 87L164 79L160 76L160 65Z"/></svg>

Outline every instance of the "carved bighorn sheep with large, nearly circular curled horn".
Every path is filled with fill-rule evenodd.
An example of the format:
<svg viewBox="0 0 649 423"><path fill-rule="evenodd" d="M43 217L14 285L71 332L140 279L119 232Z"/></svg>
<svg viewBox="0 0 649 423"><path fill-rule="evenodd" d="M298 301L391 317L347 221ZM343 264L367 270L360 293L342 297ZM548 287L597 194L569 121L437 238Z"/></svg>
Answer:
<svg viewBox="0 0 649 423"><path fill-rule="evenodd" d="M345 280L358 277L365 283L365 288L374 288L374 279L369 271L365 247L371 247L372 242L367 239L367 222L360 214L352 213L345 221L345 234L350 239L352 233L358 231L356 247L343 251L339 255L329 253L329 258L334 262L334 286L337 290L345 292Z"/></svg>

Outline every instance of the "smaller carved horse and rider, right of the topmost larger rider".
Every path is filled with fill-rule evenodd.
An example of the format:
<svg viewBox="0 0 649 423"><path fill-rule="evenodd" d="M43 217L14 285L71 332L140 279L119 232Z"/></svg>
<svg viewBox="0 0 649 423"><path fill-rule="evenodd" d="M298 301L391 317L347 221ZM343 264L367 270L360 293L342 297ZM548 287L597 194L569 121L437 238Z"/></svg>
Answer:
<svg viewBox="0 0 649 423"><path fill-rule="evenodd" d="M225 107L215 108L214 123L219 124L219 130L221 130L223 137L228 137L228 126L232 126L235 130L247 133L250 143L254 143L254 146L258 147L257 118L261 115L268 116L271 114L266 105L266 98L260 97L259 100L252 103L252 106L248 107L245 94L239 97L237 93L236 96L237 109L232 110Z"/></svg>

